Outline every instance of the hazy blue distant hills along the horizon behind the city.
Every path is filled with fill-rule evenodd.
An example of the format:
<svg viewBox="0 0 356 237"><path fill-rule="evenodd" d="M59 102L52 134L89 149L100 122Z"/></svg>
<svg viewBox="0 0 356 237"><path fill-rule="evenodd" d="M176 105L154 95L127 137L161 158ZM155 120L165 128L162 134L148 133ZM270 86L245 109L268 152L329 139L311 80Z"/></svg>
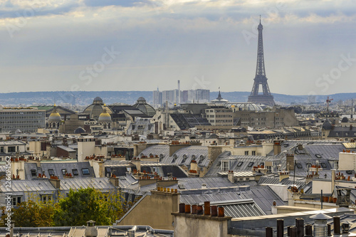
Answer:
<svg viewBox="0 0 356 237"><path fill-rule="evenodd" d="M152 103L152 91L43 91L43 92L24 92L24 93L0 93L1 105L36 105L46 104L52 105L54 102L57 104L69 103L72 105L90 105L93 99L97 96L103 99L107 104L115 102L123 102L133 105L137 98L144 97L147 102ZM249 92L221 92L221 96L230 102L246 102ZM218 96L218 92L210 93L210 99L214 100ZM337 93L329 95L338 100L350 100L356 98L356 93ZM283 95L273 94L274 100L278 104L289 105L291 103L305 103L308 101L308 95ZM325 102L328 98L327 95L316 95L316 102Z"/></svg>

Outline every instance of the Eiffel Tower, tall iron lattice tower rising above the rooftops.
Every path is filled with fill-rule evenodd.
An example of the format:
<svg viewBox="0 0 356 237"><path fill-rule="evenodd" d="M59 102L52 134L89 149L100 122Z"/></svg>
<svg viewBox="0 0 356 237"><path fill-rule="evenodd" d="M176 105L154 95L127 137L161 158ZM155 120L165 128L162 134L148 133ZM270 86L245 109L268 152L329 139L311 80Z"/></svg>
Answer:
<svg viewBox="0 0 356 237"><path fill-rule="evenodd" d="M264 105L275 105L273 100L273 95L269 91L266 71L265 71L265 60L263 58L263 38L262 38L262 30L263 26L261 24L261 16L260 16L260 24L258 25L258 49L257 49L257 66L256 66L256 76L253 83L251 95L248 96L248 102L253 102L256 104L264 104ZM262 85L263 94L258 94L258 89Z"/></svg>

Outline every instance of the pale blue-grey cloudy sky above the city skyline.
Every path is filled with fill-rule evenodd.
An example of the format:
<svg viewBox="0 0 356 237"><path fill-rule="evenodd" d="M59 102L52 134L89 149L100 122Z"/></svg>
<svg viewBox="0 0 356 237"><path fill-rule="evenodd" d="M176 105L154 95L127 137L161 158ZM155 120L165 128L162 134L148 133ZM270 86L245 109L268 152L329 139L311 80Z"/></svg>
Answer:
<svg viewBox="0 0 356 237"><path fill-rule="evenodd" d="M354 0L14 0L0 93L251 91L260 15L272 93L355 92Z"/></svg>

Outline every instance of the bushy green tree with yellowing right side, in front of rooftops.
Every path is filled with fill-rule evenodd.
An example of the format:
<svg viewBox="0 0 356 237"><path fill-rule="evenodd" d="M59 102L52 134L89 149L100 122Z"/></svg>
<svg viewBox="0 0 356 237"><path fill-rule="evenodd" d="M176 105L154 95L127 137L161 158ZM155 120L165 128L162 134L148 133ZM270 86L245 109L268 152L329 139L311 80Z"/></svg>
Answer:
<svg viewBox="0 0 356 237"><path fill-rule="evenodd" d="M83 226L93 220L98 226L111 225L123 215L120 194L104 194L93 188L70 189L66 198L60 199L53 214L56 226Z"/></svg>

